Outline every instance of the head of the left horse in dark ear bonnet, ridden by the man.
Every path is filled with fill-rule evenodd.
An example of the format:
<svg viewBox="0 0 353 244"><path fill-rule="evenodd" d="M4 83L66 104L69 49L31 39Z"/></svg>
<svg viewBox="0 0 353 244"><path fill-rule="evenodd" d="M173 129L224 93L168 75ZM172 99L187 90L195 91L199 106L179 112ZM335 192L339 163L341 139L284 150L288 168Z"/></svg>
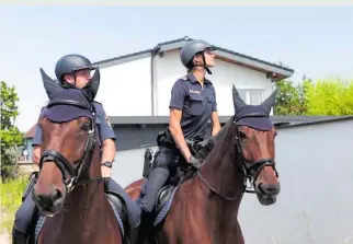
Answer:
<svg viewBox="0 0 353 244"><path fill-rule="evenodd" d="M92 177L91 162L98 149L92 102L100 73L96 70L87 88L78 90L62 89L41 72L50 101L38 120L42 156L33 199L42 213L53 216L61 210L67 193ZM101 176L99 165L94 174Z"/></svg>

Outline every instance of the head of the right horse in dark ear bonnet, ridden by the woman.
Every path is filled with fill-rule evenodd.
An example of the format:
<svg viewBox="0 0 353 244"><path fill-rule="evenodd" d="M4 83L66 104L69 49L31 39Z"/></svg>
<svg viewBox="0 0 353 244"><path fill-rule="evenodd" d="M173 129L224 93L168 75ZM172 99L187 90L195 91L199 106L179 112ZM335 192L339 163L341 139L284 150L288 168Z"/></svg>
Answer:
<svg viewBox="0 0 353 244"><path fill-rule="evenodd" d="M280 194L278 174L275 169L276 130L270 119L276 91L260 105L247 105L232 88L236 125L236 147L244 169L262 205L272 205ZM248 190L247 190L248 191Z"/></svg>

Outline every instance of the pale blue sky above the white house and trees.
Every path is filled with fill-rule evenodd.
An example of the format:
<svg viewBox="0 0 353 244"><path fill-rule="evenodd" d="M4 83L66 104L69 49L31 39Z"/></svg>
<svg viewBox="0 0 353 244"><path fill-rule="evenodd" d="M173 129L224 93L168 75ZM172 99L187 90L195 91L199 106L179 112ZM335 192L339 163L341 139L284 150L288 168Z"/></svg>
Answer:
<svg viewBox="0 0 353 244"><path fill-rule="evenodd" d="M100 61L187 35L282 61L294 82L353 78L350 7L1 7L0 15L0 80L19 93L21 131L47 101L39 68L55 78L56 61L71 53Z"/></svg>

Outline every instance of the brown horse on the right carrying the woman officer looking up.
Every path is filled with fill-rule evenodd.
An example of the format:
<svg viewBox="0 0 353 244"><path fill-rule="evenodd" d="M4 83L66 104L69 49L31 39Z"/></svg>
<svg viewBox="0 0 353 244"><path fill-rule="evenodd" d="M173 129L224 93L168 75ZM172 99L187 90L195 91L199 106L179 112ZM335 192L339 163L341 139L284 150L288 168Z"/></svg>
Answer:
<svg viewBox="0 0 353 244"><path fill-rule="evenodd" d="M149 230L144 232L153 234L145 243L244 243L238 222L243 193L255 193L263 206L274 204L280 194L274 161L276 131L270 119L275 94L252 106L234 86L235 116L196 153L203 160L201 170L169 186L169 194L168 187L161 190L167 197L160 195L157 205L168 202L166 198L171 204L156 208L159 219L162 211L167 217L155 222L153 229L146 228ZM247 188L248 179L254 190ZM136 199L144 182L136 181L125 190Z"/></svg>

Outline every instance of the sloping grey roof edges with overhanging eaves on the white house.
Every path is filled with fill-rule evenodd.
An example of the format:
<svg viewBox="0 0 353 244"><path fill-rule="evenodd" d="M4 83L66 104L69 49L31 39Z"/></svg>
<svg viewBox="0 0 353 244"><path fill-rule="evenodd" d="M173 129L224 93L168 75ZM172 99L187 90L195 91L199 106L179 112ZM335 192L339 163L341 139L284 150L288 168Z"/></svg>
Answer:
<svg viewBox="0 0 353 244"><path fill-rule="evenodd" d="M106 68L111 66L116 66L134 60L138 60L141 58L151 57L155 55L162 55L164 51L171 51L181 48L187 40L193 40L193 38L190 38L189 36L185 36L183 38L173 39L169 42L163 42L157 44L153 48L128 54L111 59L105 59L101 61L94 62L94 65ZM269 78L272 77L273 81L278 81L285 78L291 77L294 73L294 70L284 66L280 66L273 62L269 62L259 58L250 57L244 54L240 54L234 50L226 49L224 47L216 46L216 56L218 59L227 62L231 62L241 67L246 67L249 69L258 70L260 72L264 72L269 75Z"/></svg>

